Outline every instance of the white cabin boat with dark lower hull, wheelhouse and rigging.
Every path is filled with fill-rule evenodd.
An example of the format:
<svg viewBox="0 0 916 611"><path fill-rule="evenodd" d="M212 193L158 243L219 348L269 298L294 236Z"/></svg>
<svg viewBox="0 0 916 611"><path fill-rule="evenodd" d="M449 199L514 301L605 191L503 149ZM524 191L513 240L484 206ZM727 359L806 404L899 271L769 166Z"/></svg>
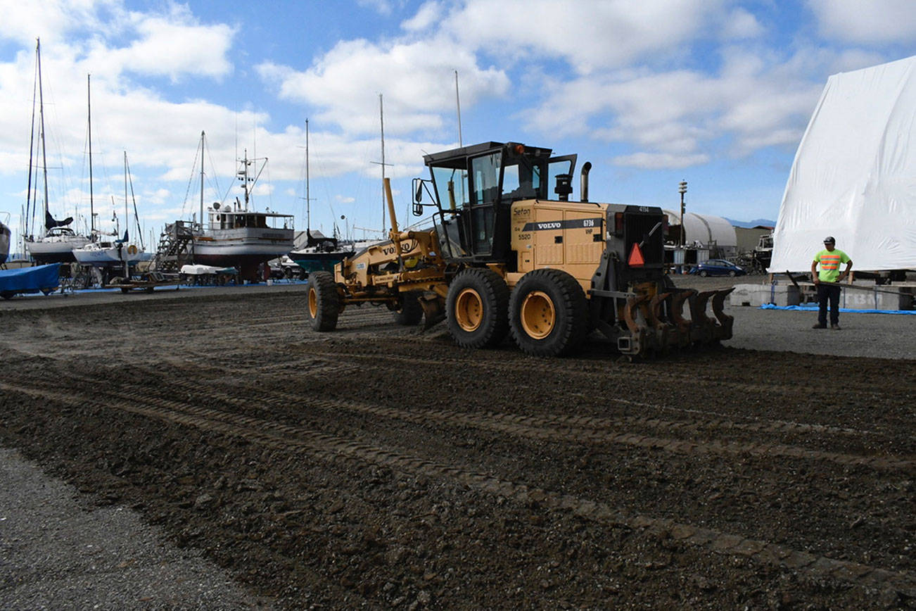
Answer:
<svg viewBox="0 0 916 611"><path fill-rule="evenodd" d="M258 267L261 264L267 266L268 260L292 250L294 217L292 214L252 210L252 191L267 165L267 158L249 159L245 150L236 172L236 178L242 182L244 202L237 197L232 203L213 202L207 208L208 223L204 224L204 137L201 132L201 226L192 235L193 262L213 267L236 267L243 279L263 279L258 278ZM261 162L259 168L258 162Z"/></svg>

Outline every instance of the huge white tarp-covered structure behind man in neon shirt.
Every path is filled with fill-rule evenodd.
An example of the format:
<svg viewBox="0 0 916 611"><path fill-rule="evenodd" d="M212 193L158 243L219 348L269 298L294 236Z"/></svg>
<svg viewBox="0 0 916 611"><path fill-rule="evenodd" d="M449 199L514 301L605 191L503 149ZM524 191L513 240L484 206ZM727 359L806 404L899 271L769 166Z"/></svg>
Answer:
<svg viewBox="0 0 916 611"><path fill-rule="evenodd" d="M782 196L769 271L833 235L862 270L916 269L916 56L827 80Z"/></svg>

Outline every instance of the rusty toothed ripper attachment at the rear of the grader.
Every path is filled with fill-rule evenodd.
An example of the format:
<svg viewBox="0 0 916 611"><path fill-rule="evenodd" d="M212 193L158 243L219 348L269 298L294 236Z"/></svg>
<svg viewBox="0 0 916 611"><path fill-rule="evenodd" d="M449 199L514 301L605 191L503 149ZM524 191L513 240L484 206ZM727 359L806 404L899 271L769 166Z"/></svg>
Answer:
<svg viewBox="0 0 916 611"><path fill-rule="evenodd" d="M640 293L629 297L623 309L629 335L617 338L617 349L624 355L647 356L666 352L671 347L730 339L733 318L725 314L723 307L725 297L733 290L698 293L693 289L672 289L655 296ZM706 314L710 300L714 318ZM690 304L690 319L683 317L684 301Z"/></svg>

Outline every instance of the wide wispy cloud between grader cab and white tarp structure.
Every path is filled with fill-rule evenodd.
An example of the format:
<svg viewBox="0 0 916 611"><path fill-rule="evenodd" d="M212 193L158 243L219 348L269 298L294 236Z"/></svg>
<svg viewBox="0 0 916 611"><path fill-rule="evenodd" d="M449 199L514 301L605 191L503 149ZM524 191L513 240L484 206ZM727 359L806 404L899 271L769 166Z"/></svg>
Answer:
<svg viewBox="0 0 916 611"><path fill-rule="evenodd" d="M636 147L616 162L640 168L683 168L716 154L792 147L823 88L793 60L773 63L727 49L718 74L643 70L578 78L552 85L551 95L525 116L543 133Z"/></svg>

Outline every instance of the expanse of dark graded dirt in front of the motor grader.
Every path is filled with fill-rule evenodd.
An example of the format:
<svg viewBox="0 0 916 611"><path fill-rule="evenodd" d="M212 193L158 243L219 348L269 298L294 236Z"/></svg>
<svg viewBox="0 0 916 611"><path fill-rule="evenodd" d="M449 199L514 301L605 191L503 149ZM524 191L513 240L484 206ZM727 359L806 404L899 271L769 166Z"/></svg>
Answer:
<svg viewBox="0 0 916 611"><path fill-rule="evenodd" d="M279 606L916 606L914 360L545 360L303 302L2 311L0 444Z"/></svg>

